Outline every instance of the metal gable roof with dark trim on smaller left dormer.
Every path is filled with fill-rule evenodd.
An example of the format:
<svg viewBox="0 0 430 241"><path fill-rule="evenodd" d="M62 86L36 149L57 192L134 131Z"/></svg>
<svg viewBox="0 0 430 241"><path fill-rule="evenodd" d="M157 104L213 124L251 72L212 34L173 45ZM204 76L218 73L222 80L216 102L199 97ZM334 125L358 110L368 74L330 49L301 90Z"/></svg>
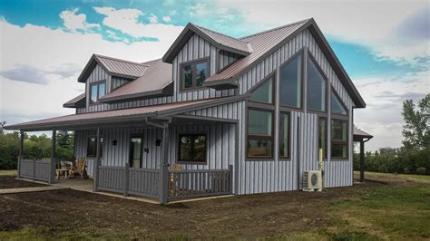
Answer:
<svg viewBox="0 0 430 241"><path fill-rule="evenodd" d="M79 76L78 82L85 82L97 63L99 63L103 69L111 75L130 79L141 77L148 67L143 63L134 63L100 54L93 54Z"/></svg>

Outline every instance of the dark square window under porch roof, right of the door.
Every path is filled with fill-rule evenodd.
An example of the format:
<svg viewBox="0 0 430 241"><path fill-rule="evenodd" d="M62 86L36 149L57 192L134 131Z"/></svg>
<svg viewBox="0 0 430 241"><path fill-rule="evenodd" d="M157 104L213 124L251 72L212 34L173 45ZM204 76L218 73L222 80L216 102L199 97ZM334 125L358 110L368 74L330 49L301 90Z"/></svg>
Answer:
<svg viewBox="0 0 430 241"><path fill-rule="evenodd" d="M178 161L206 162L206 134L179 136Z"/></svg>

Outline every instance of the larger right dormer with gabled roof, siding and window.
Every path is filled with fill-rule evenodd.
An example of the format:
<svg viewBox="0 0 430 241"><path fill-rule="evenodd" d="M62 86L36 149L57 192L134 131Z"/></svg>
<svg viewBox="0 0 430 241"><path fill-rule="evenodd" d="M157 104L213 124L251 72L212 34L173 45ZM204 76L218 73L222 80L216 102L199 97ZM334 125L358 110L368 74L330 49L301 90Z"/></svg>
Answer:
<svg viewBox="0 0 430 241"><path fill-rule="evenodd" d="M189 92L203 88L210 76L250 53L252 47L245 41L187 24L162 61L173 65L177 92Z"/></svg>

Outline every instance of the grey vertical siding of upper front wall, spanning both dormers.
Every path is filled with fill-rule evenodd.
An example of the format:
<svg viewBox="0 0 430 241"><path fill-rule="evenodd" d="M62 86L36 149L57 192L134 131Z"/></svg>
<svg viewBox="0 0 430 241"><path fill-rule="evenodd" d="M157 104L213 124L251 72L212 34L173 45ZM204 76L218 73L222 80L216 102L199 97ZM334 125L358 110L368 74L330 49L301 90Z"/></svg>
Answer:
<svg viewBox="0 0 430 241"><path fill-rule="evenodd" d="M91 112L91 111L109 111L118 110L134 107L142 107L149 105L157 105L176 101L195 101L201 99L215 98L215 97L225 97L236 94L236 90L224 90L216 91L210 88L200 88L195 91L182 92L180 87L180 74L181 74L181 63L191 62L201 58L210 59L210 75L217 72L217 66L219 65L217 58L219 57L220 50L214 45L210 44L208 41L201 38L198 34L192 34L188 42L182 47L181 51L172 61L172 79L173 79L173 95L166 97L150 98L145 100L136 101L118 101L109 104L97 104L89 105L89 85L87 84L87 108L76 109L77 113ZM236 55L231 54L229 57L222 58L222 65L230 63L237 58ZM87 82L95 82L96 80L103 80L103 78L111 78L109 75L103 71L103 68L99 65L94 68L93 73L88 78ZM111 89L111 84L113 83L115 77L112 77L112 82L107 86L107 91Z"/></svg>

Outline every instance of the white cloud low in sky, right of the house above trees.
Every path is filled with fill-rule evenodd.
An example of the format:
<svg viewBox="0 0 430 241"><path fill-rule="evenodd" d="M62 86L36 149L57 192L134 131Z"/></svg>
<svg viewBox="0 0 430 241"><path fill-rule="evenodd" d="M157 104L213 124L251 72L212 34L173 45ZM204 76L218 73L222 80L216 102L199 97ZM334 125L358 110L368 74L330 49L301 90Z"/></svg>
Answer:
<svg viewBox="0 0 430 241"><path fill-rule="evenodd" d="M428 76L427 71L396 79L366 77L354 81L367 103L366 109L354 111L355 124L375 136L367 142L366 149L401 145L405 124L401 115L403 101L416 102L430 92Z"/></svg>

